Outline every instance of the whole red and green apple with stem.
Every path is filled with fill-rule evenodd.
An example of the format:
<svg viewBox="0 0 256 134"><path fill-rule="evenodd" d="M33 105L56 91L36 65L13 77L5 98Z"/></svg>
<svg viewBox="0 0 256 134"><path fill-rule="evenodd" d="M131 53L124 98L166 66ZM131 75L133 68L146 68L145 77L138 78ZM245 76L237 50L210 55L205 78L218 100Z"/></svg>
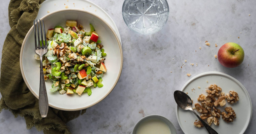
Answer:
<svg viewBox="0 0 256 134"><path fill-rule="evenodd" d="M224 67L236 67L240 65L245 57L244 50L236 43L226 43L218 51L218 60Z"/></svg>

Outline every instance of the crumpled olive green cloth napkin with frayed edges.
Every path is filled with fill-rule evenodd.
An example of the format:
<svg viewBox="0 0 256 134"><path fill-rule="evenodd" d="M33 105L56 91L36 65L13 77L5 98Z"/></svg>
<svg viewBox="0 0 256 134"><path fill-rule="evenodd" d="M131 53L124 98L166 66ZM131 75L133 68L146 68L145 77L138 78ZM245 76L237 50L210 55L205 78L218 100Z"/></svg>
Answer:
<svg viewBox="0 0 256 134"><path fill-rule="evenodd" d="M27 129L33 126L47 134L69 134L66 122L84 114L82 111L62 111L49 107L46 118L41 118L38 99L29 91L20 70L20 50L24 37L33 25L39 4L44 0L11 0L9 3L9 31L3 45L0 92L0 112L8 109L15 117L26 120ZM39 77L39 72L38 72ZM39 86L39 85L38 85Z"/></svg>

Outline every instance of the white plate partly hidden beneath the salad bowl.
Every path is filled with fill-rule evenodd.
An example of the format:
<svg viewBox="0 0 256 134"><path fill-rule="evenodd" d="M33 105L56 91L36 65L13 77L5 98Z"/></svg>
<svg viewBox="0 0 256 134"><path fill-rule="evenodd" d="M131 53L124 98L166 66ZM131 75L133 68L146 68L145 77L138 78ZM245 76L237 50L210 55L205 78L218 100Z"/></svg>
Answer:
<svg viewBox="0 0 256 134"><path fill-rule="evenodd" d="M84 9L86 11L89 11L91 13L98 15L99 17L104 19L115 30L121 42L121 37L118 31L117 25L115 24L113 19L101 7L99 7L98 5L88 0L46 0L40 5L40 9L38 11L36 19L42 18L44 15L48 14L48 11L50 13L55 12L61 9L65 9L66 6L68 6L69 9L70 8Z"/></svg>

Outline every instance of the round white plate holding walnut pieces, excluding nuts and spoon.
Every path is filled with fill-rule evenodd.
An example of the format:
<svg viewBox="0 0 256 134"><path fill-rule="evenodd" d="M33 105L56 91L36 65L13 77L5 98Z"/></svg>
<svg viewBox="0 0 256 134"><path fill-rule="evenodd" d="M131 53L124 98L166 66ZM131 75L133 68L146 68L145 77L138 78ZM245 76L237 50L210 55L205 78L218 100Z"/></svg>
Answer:
<svg viewBox="0 0 256 134"><path fill-rule="evenodd" d="M208 83L206 82L208 81ZM225 107L232 107L236 114L236 119L232 123L226 123L222 118L219 119L220 125L211 125L219 134L243 134L248 127L252 117L252 102L245 87L235 78L221 72L205 72L198 74L191 78L183 87L183 92L188 92L188 95L193 99L193 107L198 103L197 98L199 94L207 94L205 88L211 84L217 84L226 93L229 90L234 90L238 93L239 101L236 104L230 105L228 102ZM198 86L201 88L199 89ZM195 90L191 90L195 88ZM201 104L201 103L199 103ZM224 111L220 106L218 109ZM196 110L195 110L196 111ZM196 111L198 115L198 113ZM191 111L182 110L176 105L176 117L179 125L185 134L208 134L206 129L196 128L194 121L198 120Z"/></svg>

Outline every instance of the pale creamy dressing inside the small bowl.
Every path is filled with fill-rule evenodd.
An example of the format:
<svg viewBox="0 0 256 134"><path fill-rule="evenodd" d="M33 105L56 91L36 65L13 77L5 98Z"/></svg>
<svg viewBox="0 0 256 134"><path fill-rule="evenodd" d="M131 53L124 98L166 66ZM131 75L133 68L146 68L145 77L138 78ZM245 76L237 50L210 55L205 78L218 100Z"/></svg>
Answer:
<svg viewBox="0 0 256 134"><path fill-rule="evenodd" d="M171 134L171 130L159 119L148 119L139 124L136 134Z"/></svg>

